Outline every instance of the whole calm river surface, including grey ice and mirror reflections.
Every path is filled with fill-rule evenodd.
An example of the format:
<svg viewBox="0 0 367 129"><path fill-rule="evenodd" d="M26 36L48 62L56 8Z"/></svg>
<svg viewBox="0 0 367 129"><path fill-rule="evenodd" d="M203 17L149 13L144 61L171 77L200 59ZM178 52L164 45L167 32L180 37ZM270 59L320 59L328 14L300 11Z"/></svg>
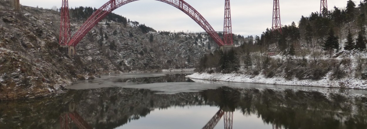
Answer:
<svg viewBox="0 0 367 129"><path fill-rule="evenodd" d="M189 74L106 75L60 95L0 102L0 129L367 129L365 90Z"/></svg>

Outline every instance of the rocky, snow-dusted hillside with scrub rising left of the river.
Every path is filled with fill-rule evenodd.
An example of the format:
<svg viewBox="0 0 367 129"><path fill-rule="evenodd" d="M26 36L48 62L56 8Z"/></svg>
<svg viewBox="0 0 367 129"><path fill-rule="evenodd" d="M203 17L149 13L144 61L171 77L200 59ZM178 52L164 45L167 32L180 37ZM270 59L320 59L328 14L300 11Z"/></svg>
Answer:
<svg viewBox="0 0 367 129"><path fill-rule="evenodd" d="M205 34L197 44L197 34L143 33L137 25L102 21L78 44L77 55L69 56L58 45L59 17L26 6L22 13L0 11L0 100L51 95L101 74L189 68L216 46ZM72 33L83 23L71 22Z"/></svg>

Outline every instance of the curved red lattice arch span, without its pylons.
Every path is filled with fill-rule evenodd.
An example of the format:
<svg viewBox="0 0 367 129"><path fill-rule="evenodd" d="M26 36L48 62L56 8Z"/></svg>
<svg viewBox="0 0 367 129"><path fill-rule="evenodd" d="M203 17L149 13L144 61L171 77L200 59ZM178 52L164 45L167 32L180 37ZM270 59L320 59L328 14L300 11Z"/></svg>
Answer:
<svg viewBox="0 0 367 129"><path fill-rule="evenodd" d="M99 21L107 16L113 10L121 7L130 2L134 2L138 0L110 0L106 4L104 4L101 8L95 11L90 18L80 27L80 29L76 32L73 38L67 45L76 46L81 39L95 26ZM211 36L214 41L219 45L226 45L222 39L219 37L217 32L211 27L211 25L204 19L204 17L197 12L191 5L186 3L183 0L157 0L167 4L170 4L179 10L185 12L185 14L189 15L196 23L198 23L208 34Z"/></svg>

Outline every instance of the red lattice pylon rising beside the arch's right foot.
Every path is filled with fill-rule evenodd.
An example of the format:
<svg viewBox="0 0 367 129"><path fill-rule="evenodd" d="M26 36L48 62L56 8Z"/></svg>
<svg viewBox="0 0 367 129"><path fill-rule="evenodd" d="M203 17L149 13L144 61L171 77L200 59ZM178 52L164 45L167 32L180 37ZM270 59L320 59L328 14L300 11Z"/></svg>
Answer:
<svg viewBox="0 0 367 129"><path fill-rule="evenodd" d="M233 45L233 36L232 36L232 20L230 15L230 2L229 0L225 0L225 9L224 9L224 44L225 45Z"/></svg>

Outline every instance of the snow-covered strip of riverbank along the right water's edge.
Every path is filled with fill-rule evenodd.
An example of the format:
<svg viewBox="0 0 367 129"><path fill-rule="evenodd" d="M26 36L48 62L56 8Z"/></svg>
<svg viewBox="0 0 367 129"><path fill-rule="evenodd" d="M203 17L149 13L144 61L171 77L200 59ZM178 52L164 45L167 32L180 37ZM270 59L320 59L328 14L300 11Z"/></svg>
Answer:
<svg viewBox="0 0 367 129"><path fill-rule="evenodd" d="M298 80L296 78L286 80L285 78L281 77L266 78L264 75L253 76L236 73L229 73L229 74L194 73L186 77L200 80L227 81L227 82L367 89L367 82L365 80L359 80L356 78L343 78L340 80L330 80L328 79L328 77L324 77L320 80Z"/></svg>

